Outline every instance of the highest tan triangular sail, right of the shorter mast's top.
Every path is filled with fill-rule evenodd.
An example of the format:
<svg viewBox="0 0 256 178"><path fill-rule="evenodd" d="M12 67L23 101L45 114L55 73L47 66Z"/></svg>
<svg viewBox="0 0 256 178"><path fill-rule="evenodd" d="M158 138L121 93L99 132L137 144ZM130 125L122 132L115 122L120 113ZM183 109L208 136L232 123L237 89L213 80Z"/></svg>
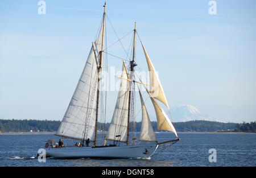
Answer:
<svg viewBox="0 0 256 178"><path fill-rule="evenodd" d="M142 43L141 43L142 44ZM147 66L148 66L148 71L150 72L150 93L151 96L154 97L156 100L159 100L160 102L163 102L164 105L167 106L169 109L166 96L164 95L164 91L162 88L162 85L160 83L160 80L158 78L158 74L155 71L155 68L153 64L151 63L150 58L147 55L146 49L144 48L143 44L143 51L147 60Z"/></svg>

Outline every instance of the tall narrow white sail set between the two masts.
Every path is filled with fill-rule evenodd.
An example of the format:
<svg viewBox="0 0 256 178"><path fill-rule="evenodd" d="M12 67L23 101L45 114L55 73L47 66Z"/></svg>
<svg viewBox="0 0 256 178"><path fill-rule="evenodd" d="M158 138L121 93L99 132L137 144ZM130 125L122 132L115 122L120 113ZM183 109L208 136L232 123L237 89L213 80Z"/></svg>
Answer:
<svg viewBox="0 0 256 178"><path fill-rule="evenodd" d="M128 79L125 64L123 64L122 68L122 78ZM128 105L129 81L121 79L114 114L108 130L108 140L118 140L120 142L126 142Z"/></svg>

